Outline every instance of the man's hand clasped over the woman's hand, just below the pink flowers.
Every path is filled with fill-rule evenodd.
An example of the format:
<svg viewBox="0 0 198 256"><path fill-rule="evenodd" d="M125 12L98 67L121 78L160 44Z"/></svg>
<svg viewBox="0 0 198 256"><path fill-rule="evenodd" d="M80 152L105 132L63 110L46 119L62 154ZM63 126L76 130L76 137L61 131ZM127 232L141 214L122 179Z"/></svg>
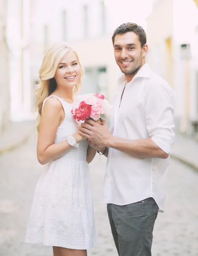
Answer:
<svg viewBox="0 0 198 256"><path fill-rule="evenodd" d="M86 119L79 127L79 134L96 145L108 147L112 135L105 120L100 121L101 125L92 119Z"/></svg>

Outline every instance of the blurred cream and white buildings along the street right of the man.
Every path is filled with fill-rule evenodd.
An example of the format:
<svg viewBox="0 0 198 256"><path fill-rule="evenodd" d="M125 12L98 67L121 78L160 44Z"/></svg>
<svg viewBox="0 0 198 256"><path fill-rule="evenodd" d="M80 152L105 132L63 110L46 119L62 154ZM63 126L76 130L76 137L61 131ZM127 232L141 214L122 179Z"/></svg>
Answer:
<svg viewBox="0 0 198 256"><path fill-rule="evenodd" d="M176 94L176 128L198 133L198 0L154 0L148 62Z"/></svg>

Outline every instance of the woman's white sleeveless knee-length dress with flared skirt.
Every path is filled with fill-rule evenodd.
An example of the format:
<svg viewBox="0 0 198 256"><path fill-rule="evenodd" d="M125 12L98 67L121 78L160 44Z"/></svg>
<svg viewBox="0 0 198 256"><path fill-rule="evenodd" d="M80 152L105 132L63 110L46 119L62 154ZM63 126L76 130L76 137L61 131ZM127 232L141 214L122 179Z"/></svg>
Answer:
<svg viewBox="0 0 198 256"><path fill-rule="evenodd" d="M65 111L55 137L55 143L59 143L77 132L78 125L72 118L71 104L57 96L49 97L59 99ZM78 148L72 147L49 163L41 175L34 193L26 242L78 250L96 244L87 148L87 141L81 141Z"/></svg>

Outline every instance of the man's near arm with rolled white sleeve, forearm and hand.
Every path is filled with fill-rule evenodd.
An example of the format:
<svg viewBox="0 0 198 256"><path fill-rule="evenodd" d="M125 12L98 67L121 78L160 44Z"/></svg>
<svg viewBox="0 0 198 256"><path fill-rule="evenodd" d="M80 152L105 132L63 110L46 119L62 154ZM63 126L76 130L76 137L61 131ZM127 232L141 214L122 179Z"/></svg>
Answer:
<svg viewBox="0 0 198 256"><path fill-rule="evenodd" d="M133 157L167 158L175 139L173 131L174 93L169 85L152 84L145 96L146 128L149 138L128 140L110 134L106 122L102 125L86 120L79 134L92 143L115 148Z"/></svg>

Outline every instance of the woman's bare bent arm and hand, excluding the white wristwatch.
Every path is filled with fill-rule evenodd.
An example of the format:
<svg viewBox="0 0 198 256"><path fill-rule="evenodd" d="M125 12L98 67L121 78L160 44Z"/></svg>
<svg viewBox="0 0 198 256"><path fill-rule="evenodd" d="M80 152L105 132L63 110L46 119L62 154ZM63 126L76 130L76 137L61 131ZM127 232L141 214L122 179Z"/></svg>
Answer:
<svg viewBox="0 0 198 256"><path fill-rule="evenodd" d="M64 111L60 101L56 98L47 99L41 116L37 141L37 159L40 164L49 163L61 157L72 148L72 146L67 143L67 140L54 143L57 128L62 119L64 119ZM71 135L75 138L77 143L83 140L83 137L81 137L78 132Z"/></svg>

